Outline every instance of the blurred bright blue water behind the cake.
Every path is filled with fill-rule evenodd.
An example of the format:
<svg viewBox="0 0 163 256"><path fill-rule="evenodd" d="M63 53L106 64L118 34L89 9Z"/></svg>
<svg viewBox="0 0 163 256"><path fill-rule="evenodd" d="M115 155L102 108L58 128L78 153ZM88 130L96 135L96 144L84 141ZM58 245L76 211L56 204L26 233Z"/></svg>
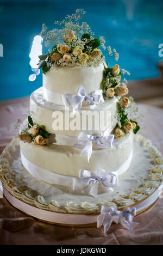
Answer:
<svg viewBox="0 0 163 256"><path fill-rule="evenodd" d="M41 86L42 75L29 82L29 53L42 23L49 29L55 20L83 8L83 20L96 36L120 53L118 64L130 71L130 80L158 76L158 45L163 43L163 1L158 0L51 0L0 2L1 100L30 95ZM44 48L45 52L46 49ZM110 65L112 59L109 61Z"/></svg>

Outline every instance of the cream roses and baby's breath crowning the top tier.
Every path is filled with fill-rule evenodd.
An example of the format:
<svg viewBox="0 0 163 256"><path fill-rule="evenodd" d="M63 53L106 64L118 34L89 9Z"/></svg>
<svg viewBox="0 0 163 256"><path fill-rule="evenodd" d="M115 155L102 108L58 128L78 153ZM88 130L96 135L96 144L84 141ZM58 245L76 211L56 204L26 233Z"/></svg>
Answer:
<svg viewBox="0 0 163 256"><path fill-rule="evenodd" d="M111 51L110 46L105 46L103 36L95 38L86 22L79 24L83 14L83 9L77 9L76 13L67 15L64 20L55 21L54 24L59 28L52 31L48 31L45 24L42 25L40 35L45 40L45 46L52 46L47 54L39 56L38 68L42 68L43 74L53 65L98 66L104 62L107 53L118 60L118 53L115 49Z"/></svg>

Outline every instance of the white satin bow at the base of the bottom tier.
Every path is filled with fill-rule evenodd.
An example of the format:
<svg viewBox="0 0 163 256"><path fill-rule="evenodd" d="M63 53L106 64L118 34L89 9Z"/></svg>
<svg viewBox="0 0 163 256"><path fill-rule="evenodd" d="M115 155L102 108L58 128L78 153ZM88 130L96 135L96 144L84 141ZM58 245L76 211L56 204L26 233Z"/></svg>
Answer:
<svg viewBox="0 0 163 256"><path fill-rule="evenodd" d="M102 184L108 191L113 191L112 187L118 186L116 173L106 173L105 170L98 168L97 174L90 170L80 170L79 178L73 178L73 190L85 188L82 192L97 197L98 185Z"/></svg>

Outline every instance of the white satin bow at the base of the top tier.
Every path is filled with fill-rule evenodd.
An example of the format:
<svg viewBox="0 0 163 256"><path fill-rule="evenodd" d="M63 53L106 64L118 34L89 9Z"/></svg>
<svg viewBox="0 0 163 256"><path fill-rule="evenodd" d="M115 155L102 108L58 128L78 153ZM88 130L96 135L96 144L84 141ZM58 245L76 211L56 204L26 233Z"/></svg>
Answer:
<svg viewBox="0 0 163 256"><path fill-rule="evenodd" d="M82 102L86 101L90 108L98 111L96 104L104 102L103 91L95 90L90 95L86 95L83 86L79 86L76 90L77 94L62 94L62 100L66 107L73 107L73 114L82 107Z"/></svg>

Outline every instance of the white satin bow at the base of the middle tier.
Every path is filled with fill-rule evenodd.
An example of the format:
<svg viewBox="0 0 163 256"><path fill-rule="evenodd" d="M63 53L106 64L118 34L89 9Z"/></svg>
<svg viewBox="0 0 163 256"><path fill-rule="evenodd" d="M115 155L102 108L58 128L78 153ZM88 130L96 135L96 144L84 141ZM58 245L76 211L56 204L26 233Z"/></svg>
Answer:
<svg viewBox="0 0 163 256"><path fill-rule="evenodd" d="M78 136L79 142L74 144L74 149L80 149L82 150L83 154L87 153L87 161L89 162L90 157L92 155L92 143L95 143L98 148L112 148L112 142L114 140L114 135L110 134L108 135L109 130L106 129L99 136L93 136L89 135L85 132L80 132Z"/></svg>

